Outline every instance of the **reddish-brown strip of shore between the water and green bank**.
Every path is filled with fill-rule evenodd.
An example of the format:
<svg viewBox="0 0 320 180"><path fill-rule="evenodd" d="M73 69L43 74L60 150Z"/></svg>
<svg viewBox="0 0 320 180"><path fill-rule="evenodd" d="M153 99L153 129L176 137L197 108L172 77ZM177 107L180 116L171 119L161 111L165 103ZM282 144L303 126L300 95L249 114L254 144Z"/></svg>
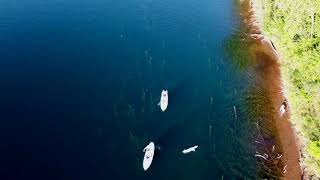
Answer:
<svg viewBox="0 0 320 180"><path fill-rule="evenodd" d="M294 128L290 121L290 108L286 106L286 112L280 115L279 108L286 99L283 93L281 80L279 55L271 41L263 35L262 30L255 18L255 11L251 0L240 0L241 20L247 40L250 41L249 51L254 59L256 72L262 88L267 92L270 99L272 114L270 119L276 129L278 151L282 152L283 179L300 180L303 172L300 166L300 145Z"/></svg>

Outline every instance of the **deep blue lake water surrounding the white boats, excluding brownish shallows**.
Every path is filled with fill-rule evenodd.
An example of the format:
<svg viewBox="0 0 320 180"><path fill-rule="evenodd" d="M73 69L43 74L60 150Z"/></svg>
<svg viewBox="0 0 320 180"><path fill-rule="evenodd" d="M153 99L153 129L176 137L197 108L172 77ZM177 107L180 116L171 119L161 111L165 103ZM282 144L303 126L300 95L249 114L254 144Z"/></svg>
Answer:
<svg viewBox="0 0 320 180"><path fill-rule="evenodd" d="M2 0L1 179L254 179L233 2Z"/></svg>

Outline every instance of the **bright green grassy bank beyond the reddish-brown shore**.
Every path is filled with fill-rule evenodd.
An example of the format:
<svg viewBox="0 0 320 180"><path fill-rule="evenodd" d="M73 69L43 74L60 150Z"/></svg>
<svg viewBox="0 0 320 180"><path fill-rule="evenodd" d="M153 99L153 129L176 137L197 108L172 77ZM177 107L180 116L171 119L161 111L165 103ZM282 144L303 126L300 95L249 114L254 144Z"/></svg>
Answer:
<svg viewBox="0 0 320 180"><path fill-rule="evenodd" d="M304 166L320 177L320 0L255 0L263 31L281 54L291 119Z"/></svg>

